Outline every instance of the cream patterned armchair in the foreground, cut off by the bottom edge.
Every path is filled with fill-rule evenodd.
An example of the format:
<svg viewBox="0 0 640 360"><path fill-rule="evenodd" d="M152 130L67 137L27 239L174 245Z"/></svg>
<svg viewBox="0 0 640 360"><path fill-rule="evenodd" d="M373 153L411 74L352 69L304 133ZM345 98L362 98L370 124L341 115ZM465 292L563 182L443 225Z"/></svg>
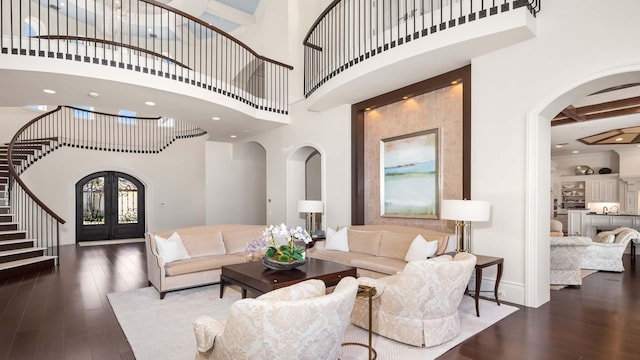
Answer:
<svg viewBox="0 0 640 360"><path fill-rule="evenodd" d="M352 277L330 294L323 281L307 280L238 300L226 325L209 316L193 323L196 360L335 360L357 291Z"/></svg>

